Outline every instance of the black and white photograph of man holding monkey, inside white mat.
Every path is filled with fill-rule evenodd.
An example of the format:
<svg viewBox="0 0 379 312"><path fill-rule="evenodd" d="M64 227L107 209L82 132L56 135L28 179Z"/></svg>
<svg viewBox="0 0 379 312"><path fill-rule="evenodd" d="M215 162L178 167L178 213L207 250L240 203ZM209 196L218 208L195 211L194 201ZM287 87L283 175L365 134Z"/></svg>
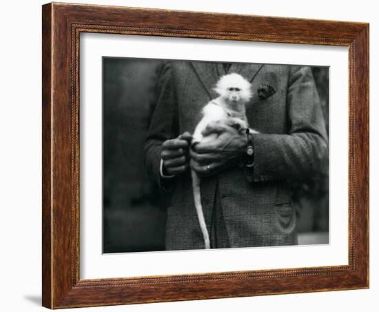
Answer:
<svg viewBox="0 0 379 312"><path fill-rule="evenodd" d="M329 67L102 62L103 253L329 244Z"/></svg>

